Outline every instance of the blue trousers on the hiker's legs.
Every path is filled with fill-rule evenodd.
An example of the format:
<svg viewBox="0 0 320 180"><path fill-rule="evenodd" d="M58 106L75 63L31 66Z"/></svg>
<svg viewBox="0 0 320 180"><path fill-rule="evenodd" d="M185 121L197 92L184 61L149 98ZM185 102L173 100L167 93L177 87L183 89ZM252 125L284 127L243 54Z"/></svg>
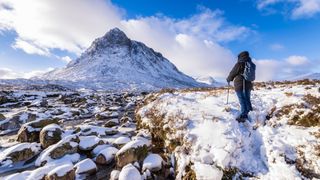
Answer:
<svg viewBox="0 0 320 180"><path fill-rule="evenodd" d="M241 106L241 116L247 116L249 111L252 111L252 105L250 100L251 90L246 89L246 90L236 91L236 94L238 96L239 103Z"/></svg>

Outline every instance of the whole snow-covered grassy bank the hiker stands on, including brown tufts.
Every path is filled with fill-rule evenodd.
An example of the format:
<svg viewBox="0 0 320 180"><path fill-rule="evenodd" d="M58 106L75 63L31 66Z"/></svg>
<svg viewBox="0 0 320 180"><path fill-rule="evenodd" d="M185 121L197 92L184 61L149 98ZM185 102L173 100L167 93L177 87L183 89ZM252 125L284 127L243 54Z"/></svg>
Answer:
<svg viewBox="0 0 320 180"><path fill-rule="evenodd" d="M176 179L319 179L319 85L259 83L245 123L221 88L151 94L138 116L174 152Z"/></svg>

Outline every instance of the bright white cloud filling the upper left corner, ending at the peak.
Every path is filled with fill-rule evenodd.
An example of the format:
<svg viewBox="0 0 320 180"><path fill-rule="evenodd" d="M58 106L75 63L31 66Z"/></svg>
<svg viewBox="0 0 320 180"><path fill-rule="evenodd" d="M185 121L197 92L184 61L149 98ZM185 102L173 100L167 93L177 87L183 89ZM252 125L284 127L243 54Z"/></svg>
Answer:
<svg viewBox="0 0 320 180"><path fill-rule="evenodd" d="M14 30L14 47L27 53L57 48L79 54L120 20L121 10L104 0L0 1L0 30Z"/></svg>

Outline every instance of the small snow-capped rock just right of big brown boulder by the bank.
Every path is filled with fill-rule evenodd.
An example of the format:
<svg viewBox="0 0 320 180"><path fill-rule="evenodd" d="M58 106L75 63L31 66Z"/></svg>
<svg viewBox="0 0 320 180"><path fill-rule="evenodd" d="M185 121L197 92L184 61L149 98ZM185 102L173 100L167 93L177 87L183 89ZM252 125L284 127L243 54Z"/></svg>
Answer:
<svg viewBox="0 0 320 180"><path fill-rule="evenodd" d="M158 154L149 154L143 161L142 170L149 169L151 172L160 171L162 168L163 159Z"/></svg>

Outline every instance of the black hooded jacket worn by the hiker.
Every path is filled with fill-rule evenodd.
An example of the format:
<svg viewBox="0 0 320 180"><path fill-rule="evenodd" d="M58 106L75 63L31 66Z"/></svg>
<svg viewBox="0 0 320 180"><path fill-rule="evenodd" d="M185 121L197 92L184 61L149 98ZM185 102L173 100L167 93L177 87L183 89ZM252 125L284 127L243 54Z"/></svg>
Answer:
<svg viewBox="0 0 320 180"><path fill-rule="evenodd" d="M234 88L236 91L242 91L242 90L252 90L253 85L251 81L247 81L242 76L245 68L245 62L251 61L251 58L249 56L248 52L240 53L238 56L238 62L234 65L231 72L229 73L229 76L227 78L227 81L233 81ZM245 81L245 83L244 83ZM245 84L245 87L243 85Z"/></svg>

